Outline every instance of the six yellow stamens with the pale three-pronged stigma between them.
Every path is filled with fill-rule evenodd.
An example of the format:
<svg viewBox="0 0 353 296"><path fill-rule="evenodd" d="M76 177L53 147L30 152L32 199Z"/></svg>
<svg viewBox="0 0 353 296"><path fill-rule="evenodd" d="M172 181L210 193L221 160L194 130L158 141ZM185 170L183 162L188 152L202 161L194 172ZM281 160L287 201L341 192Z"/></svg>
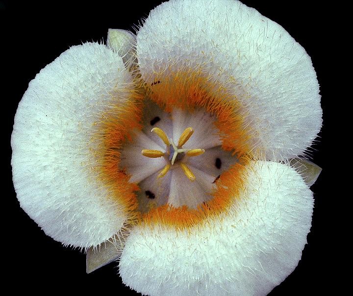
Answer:
<svg viewBox="0 0 353 296"><path fill-rule="evenodd" d="M158 178L162 178L168 173L171 165L173 166L174 163L178 163L183 170L184 174L188 177L190 181L195 181L196 177L195 174L183 163L184 156L198 156L204 153L204 149L196 148L196 149L183 149L182 146L189 140L189 138L194 133L194 129L192 127L187 127L181 134L177 146L174 144L173 139L170 138L168 140L167 135L163 131L163 129L159 127L153 127L151 132L155 132L159 138L162 139L164 144L167 146L167 151L163 152L160 150L152 150L152 149L143 149L142 155L150 158L157 158L157 157L165 157L168 163L165 165L163 170L158 174Z"/></svg>

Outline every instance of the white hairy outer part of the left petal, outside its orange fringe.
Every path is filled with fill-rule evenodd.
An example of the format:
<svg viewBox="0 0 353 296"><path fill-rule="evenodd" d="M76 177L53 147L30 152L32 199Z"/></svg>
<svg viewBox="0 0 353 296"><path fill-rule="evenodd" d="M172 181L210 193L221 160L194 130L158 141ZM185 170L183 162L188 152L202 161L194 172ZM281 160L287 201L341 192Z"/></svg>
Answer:
<svg viewBox="0 0 353 296"><path fill-rule="evenodd" d="M102 44L63 52L29 83L11 138L13 182L25 212L53 239L91 247L126 221L97 177L101 116L133 87L122 58Z"/></svg>

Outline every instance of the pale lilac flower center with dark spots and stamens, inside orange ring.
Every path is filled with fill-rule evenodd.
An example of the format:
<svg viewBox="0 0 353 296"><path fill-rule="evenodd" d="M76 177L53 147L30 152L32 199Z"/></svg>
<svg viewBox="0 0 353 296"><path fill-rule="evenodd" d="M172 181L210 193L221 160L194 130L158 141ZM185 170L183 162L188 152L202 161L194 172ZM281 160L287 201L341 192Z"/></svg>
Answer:
<svg viewBox="0 0 353 296"><path fill-rule="evenodd" d="M142 130L121 149L119 165L140 188L138 211L210 201L220 175L237 162L222 148L216 116L203 108L166 112L151 101L142 111Z"/></svg>

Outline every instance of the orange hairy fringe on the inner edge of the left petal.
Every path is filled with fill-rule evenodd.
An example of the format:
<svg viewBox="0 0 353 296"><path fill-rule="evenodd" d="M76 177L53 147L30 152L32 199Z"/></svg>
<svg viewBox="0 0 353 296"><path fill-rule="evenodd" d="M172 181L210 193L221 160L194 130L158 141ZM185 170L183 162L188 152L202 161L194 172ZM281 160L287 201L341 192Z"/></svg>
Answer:
<svg viewBox="0 0 353 296"><path fill-rule="evenodd" d="M141 101L144 96L138 90L131 90L128 99L116 98L108 112L102 114L99 132L94 135L97 158L97 174L108 186L110 197L119 200L128 214L128 222L134 223L138 218L138 207L135 192L139 187L128 182L130 176L119 167L120 148L126 140L131 140L134 129L141 129Z"/></svg>

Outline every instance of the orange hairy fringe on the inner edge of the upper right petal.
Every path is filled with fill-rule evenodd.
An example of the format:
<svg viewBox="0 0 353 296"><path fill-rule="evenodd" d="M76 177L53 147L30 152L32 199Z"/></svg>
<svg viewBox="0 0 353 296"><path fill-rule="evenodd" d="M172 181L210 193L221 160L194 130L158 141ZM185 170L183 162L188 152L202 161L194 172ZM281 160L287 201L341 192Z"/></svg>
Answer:
<svg viewBox="0 0 353 296"><path fill-rule="evenodd" d="M201 71L188 70L170 74L168 79L155 78L148 88L149 97L165 111L174 107L192 112L202 107L217 117L216 127L220 132L222 148L242 156L249 153L253 131L245 126L246 114L240 103L226 88L204 77Z"/></svg>

